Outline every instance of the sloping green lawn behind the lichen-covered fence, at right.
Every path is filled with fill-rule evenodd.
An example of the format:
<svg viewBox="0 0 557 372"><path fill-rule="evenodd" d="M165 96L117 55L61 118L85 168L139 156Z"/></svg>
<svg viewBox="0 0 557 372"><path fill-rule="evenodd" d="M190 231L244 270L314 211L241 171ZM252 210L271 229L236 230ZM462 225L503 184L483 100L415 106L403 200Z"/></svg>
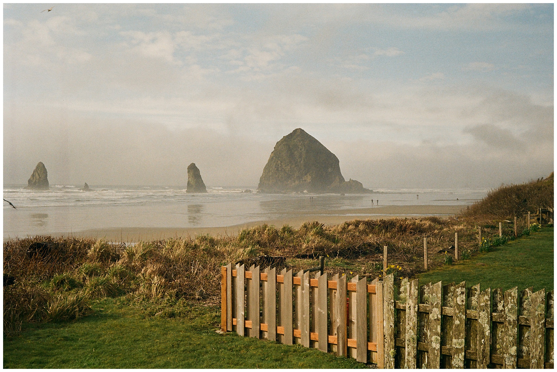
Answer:
<svg viewBox="0 0 557 372"><path fill-rule="evenodd" d="M484 288L534 287L553 291L553 228L543 228L530 236L510 241L491 252L470 260L431 270L418 276L420 284L466 281L466 286L480 283Z"/></svg>

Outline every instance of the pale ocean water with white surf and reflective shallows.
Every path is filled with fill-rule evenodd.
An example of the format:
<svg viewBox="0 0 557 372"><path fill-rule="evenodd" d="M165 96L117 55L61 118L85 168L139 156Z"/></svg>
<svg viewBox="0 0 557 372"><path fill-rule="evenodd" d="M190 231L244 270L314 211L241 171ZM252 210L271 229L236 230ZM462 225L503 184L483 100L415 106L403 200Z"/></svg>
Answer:
<svg viewBox="0 0 557 372"><path fill-rule="evenodd" d="M180 186L51 185L48 191L4 186L4 240L28 235L77 233L105 228L207 228L280 219L292 214L365 216L393 205L470 205L487 190L379 189L380 194L256 194L255 187L209 187L186 194ZM418 195L418 196L417 196ZM366 208L365 213L354 209Z"/></svg>

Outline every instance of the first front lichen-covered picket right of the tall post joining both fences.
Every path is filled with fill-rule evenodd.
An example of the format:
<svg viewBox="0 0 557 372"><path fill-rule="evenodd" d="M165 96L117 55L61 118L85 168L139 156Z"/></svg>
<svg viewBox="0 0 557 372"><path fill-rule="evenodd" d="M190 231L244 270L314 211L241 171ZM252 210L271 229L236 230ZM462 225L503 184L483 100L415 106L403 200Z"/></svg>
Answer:
<svg viewBox="0 0 557 372"><path fill-rule="evenodd" d="M418 356L418 279L406 286L406 335L404 368L416 368Z"/></svg>

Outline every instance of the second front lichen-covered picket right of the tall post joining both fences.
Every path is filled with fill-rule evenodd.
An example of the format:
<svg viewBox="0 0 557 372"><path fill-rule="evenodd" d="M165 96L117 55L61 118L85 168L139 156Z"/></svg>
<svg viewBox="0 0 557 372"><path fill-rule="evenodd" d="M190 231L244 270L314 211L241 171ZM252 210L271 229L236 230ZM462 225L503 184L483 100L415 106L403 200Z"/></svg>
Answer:
<svg viewBox="0 0 557 372"><path fill-rule="evenodd" d="M437 282L430 286L429 322L427 329L427 368L439 369L441 364L441 308L443 304L443 284Z"/></svg>

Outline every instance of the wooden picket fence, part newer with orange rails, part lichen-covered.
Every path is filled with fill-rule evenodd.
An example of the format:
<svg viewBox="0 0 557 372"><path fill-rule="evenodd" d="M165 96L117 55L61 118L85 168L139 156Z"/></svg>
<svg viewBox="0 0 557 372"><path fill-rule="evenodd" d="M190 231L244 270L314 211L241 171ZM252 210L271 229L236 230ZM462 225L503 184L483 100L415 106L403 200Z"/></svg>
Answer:
<svg viewBox="0 0 557 372"><path fill-rule="evenodd" d="M378 368L551 368L553 291L426 284L228 264L221 328ZM322 336L323 335L323 336Z"/></svg>

